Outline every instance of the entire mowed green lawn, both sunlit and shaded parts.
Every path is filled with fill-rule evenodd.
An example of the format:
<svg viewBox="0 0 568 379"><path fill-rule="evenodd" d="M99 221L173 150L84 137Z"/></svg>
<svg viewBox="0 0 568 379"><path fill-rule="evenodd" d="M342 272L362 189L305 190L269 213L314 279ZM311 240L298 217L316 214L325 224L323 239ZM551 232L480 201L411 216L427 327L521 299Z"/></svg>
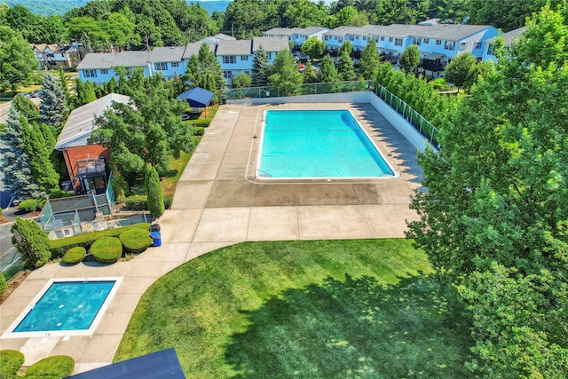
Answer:
<svg viewBox="0 0 568 379"><path fill-rule="evenodd" d="M403 239L246 242L154 283L114 361L174 347L188 378L470 377L470 316Z"/></svg>

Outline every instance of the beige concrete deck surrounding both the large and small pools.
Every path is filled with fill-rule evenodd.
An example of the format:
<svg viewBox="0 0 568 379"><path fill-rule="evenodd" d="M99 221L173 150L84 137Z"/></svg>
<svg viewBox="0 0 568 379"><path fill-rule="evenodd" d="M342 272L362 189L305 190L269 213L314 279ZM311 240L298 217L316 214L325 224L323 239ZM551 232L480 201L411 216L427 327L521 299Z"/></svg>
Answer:
<svg viewBox="0 0 568 379"><path fill-rule="evenodd" d="M397 178L259 181L254 178L265 109L350 109ZM112 362L140 297L166 272L194 257L243 241L404 237L410 195L420 188L416 149L370 104L222 106L160 218L162 247L114 265L45 265L0 305L0 335L51 278L123 277L92 336L0 338L0 350L24 353L25 366L51 355L75 359L75 373Z"/></svg>

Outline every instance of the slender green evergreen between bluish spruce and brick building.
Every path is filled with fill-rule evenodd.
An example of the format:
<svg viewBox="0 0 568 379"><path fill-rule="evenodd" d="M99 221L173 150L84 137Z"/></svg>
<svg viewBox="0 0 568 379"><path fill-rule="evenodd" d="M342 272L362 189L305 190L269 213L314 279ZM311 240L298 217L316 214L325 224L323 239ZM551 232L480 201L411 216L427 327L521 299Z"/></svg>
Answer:
<svg viewBox="0 0 568 379"><path fill-rule="evenodd" d="M59 174L53 169L51 149L43 138L42 129L36 122L29 125L26 117L21 115L20 128L24 152L28 154L29 168L37 186L42 192L50 193L59 186Z"/></svg>

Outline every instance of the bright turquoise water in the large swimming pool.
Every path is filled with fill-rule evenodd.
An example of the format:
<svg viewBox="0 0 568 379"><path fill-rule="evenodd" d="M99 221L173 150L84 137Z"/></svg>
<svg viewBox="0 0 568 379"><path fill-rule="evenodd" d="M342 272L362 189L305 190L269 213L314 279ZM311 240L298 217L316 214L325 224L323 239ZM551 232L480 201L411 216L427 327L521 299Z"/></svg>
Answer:
<svg viewBox="0 0 568 379"><path fill-rule="evenodd" d="M266 111L259 161L259 178L394 175L347 110Z"/></svg>

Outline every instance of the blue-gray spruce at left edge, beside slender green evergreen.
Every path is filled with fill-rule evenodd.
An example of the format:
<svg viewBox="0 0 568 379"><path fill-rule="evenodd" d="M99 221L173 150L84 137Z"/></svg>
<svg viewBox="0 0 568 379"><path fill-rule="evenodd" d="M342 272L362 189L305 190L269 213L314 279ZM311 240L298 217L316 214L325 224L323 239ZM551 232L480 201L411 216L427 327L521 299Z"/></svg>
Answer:
<svg viewBox="0 0 568 379"><path fill-rule="evenodd" d="M0 134L0 140L2 140L0 152L4 157L0 162L0 168L4 172L4 186L10 188L18 200L40 197L42 192L32 175L28 154L24 150L20 113L14 107L10 108L6 130Z"/></svg>

